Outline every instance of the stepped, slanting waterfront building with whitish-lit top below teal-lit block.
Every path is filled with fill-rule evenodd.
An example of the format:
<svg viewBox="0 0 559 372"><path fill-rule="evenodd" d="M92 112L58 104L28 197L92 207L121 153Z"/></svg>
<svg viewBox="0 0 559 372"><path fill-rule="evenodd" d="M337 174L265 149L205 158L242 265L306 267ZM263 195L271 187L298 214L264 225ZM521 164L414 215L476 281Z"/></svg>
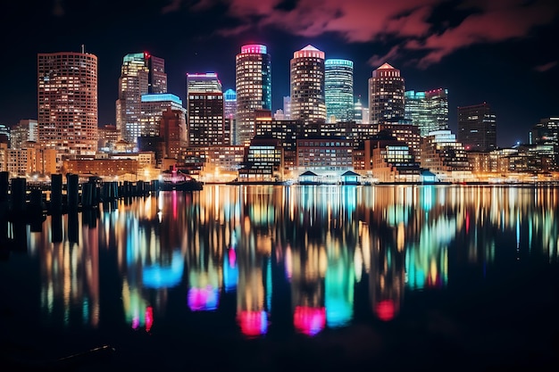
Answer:
<svg viewBox="0 0 559 372"><path fill-rule="evenodd" d="M450 130L430 132L421 141L421 167L450 182L471 180L468 155Z"/></svg>

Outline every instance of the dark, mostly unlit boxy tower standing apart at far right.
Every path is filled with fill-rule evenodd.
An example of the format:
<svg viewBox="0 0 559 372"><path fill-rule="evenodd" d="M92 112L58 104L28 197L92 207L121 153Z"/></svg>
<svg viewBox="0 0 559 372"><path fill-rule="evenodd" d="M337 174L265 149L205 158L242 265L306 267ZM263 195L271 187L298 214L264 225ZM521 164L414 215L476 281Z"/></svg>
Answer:
<svg viewBox="0 0 559 372"><path fill-rule="evenodd" d="M489 103L458 107L457 140L466 151L496 150L496 113Z"/></svg>

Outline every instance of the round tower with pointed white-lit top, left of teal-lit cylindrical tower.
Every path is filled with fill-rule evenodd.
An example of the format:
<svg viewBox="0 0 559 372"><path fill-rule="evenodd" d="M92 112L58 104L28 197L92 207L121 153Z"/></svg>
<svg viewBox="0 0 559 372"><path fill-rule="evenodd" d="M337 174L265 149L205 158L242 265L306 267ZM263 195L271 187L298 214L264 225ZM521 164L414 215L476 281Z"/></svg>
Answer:
<svg viewBox="0 0 559 372"><path fill-rule="evenodd" d="M324 52L306 45L290 63L291 120L326 120Z"/></svg>

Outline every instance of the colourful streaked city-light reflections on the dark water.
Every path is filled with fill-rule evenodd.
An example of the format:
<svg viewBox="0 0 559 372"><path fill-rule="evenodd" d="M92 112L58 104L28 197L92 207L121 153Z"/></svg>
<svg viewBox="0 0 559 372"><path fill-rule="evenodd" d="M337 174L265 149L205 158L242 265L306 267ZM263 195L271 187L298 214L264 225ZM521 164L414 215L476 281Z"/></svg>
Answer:
<svg viewBox="0 0 559 372"><path fill-rule="evenodd" d="M316 335L351 325L358 296L391 321L405 293L446 290L454 271L556 262L558 200L547 187L204 186L49 216L23 239L45 325L154 332L221 311L249 337L286 318Z"/></svg>

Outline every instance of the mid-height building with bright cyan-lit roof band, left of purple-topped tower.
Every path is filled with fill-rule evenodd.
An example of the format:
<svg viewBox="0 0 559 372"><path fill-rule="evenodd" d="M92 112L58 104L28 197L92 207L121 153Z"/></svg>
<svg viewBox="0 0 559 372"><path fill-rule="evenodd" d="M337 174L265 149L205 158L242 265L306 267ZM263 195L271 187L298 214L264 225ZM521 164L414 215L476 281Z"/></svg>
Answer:
<svg viewBox="0 0 559 372"><path fill-rule="evenodd" d="M163 112L178 110L185 112L182 100L170 93L142 95L140 104L139 136L160 136L160 121Z"/></svg>

